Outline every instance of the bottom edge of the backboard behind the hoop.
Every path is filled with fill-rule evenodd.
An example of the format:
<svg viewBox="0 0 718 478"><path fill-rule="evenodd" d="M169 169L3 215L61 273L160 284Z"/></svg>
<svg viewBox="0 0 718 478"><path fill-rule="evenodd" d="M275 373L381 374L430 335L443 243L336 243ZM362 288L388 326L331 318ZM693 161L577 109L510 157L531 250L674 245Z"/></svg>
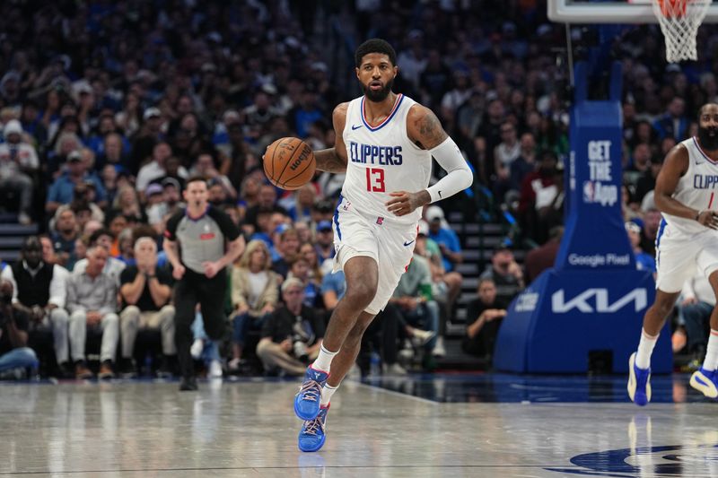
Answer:
<svg viewBox="0 0 718 478"><path fill-rule="evenodd" d="M559 23L657 23L651 0L547 0L548 19ZM718 2L704 23L718 23Z"/></svg>

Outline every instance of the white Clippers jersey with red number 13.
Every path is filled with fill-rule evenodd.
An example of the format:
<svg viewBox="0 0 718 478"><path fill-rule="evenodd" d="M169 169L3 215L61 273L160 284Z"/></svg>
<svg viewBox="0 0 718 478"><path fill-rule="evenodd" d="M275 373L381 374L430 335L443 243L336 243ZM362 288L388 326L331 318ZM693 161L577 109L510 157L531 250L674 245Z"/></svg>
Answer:
<svg viewBox="0 0 718 478"><path fill-rule="evenodd" d="M348 161L342 196L372 222L416 223L421 208L396 216L386 206L391 192L416 193L429 186L432 155L407 135L407 114L416 101L398 94L389 117L373 127L364 117L363 104L364 98L357 98L346 110L343 138Z"/></svg>

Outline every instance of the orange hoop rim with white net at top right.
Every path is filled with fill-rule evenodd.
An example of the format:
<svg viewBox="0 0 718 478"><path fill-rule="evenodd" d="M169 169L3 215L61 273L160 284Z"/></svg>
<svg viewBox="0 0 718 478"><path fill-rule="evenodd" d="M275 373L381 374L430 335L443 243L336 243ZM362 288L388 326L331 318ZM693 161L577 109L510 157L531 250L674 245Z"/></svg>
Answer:
<svg viewBox="0 0 718 478"><path fill-rule="evenodd" d="M696 34L712 0L652 0L666 39L666 60L697 60Z"/></svg>

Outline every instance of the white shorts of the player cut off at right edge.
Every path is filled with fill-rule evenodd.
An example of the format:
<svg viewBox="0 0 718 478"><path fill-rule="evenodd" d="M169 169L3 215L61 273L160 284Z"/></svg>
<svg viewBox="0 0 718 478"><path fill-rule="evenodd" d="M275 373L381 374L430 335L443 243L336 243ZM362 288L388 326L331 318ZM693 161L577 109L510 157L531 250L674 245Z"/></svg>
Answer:
<svg viewBox="0 0 718 478"><path fill-rule="evenodd" d="M697 271L708 277L718 270L718 231L687 236L666 224L656 239L656 289L679 292Z"/></svg>

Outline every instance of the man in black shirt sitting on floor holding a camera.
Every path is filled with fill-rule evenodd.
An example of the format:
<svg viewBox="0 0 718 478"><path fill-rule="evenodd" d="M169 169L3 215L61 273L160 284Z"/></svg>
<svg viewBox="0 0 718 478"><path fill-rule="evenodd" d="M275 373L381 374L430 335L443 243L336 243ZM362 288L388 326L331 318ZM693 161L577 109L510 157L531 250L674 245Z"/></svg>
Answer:
<svg viewBox="0 0 718 478"><path fill-rule="evenodd" d="M314 309L304 305L304 286L295 278L282 283L285 305L267 317L257 355L267 371L283 370L303 375L315 360L324 337L324 321Z"/></svg>

